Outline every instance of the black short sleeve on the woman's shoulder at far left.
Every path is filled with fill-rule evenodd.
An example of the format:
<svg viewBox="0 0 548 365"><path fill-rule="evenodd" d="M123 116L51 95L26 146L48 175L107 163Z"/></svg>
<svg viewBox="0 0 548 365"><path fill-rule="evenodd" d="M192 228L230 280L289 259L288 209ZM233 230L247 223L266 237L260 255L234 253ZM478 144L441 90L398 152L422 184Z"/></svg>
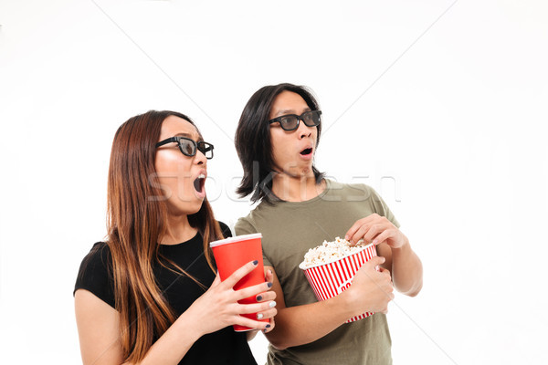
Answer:
<svg viewBox="0 0 548 365"><path fill-rule="evenodd" d="M88 290L112 308L116 308L111 250L107 244L98 242L93 245L90 253L82 260L73 295L78 289Z"/></svg>

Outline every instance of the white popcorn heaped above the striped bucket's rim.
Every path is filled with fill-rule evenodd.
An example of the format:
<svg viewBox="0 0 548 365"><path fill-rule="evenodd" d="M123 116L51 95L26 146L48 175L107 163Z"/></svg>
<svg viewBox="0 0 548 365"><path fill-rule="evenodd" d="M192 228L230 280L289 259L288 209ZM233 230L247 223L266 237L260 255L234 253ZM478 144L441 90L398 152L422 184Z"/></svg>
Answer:
<svg viewBox="0 0 548 365"><path fill-rule="evenodd" d="M352 255L362 250L365 246L363 239L359 240L356 245L350 245L350 242L345 239L336 237L332 242L323 241L321 245L308 250L304 254L304 261L300 266L310 267L331 263L344 256Z"/></svg>

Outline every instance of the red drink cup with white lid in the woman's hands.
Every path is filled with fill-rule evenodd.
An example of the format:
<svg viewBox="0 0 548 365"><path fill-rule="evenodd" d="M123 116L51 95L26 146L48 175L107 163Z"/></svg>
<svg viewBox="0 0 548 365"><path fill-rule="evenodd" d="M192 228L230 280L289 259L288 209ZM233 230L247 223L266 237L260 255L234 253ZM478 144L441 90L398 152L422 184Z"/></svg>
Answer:
<svg viewBox="0 0 548 365"><path fill-rule="evenodd" d="M219 270L221 280L227 279L238 268L248 264L250 261L257 260L258 266L253 269L247 276L244 276L234 286L234 290L244 287L252 287L254 285L265 282L265 274L262 261L262 246L260 245L261 234L253 235L237 235L227 239L211 242L209 245L215 256L216 266ZM238 300L240 304L257 303L255 296L246 297ZM257 313L242 314L240 316L257 320ZM261 319L261 322L269 322L269 318ZM247 331L253 328L234 325L234 330L237 332Z"/></svg>

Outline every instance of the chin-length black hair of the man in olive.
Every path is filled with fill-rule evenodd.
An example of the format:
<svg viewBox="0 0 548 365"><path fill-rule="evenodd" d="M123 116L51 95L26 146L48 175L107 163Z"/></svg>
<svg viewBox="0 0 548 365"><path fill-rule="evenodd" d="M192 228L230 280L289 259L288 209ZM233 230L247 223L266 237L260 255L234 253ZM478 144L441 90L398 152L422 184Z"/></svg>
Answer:
<svg viewBox="0 0 548 365"><path fill-rule="evenodd" d="M234 139L237 156L244 168L244 176L236 192L240 197L251 194L250 199L253 203L264 198L267 201L275 199L272 194L274 162L270 143L269 114L274 99L282 91L299 94L311 110L320 110L320 105L312 95L311 89L289 83L265 86L258 89L248 100L237 123ZM318 129L316 145L318 145L321 124L316 128ZM319 172L313 164L312 172L314 172L316 183L320 183L324 173Z"/></svg>

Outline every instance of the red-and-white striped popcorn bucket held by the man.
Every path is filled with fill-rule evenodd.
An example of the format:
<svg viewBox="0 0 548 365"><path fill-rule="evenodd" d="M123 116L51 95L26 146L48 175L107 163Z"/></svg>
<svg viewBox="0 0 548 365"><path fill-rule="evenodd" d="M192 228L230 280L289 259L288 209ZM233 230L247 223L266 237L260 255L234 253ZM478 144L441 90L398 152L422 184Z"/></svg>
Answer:
<svg viewBox="0 0 548 365"><path fill-rule="evenodd" d="M304 261L300 263L299 268L304 271L304 275L311 284L312 290L318 300L329 299L341 294L351 286L353 276L358 269L369 261L371 257L376 256L376 246L366 245L363 249L352 255L343 256L336 261L327 264L305 266ZM378 266L377 266L378 270ZM365 312L359 316L348 319L345 323L371 316L374 312Z"/></svg>

